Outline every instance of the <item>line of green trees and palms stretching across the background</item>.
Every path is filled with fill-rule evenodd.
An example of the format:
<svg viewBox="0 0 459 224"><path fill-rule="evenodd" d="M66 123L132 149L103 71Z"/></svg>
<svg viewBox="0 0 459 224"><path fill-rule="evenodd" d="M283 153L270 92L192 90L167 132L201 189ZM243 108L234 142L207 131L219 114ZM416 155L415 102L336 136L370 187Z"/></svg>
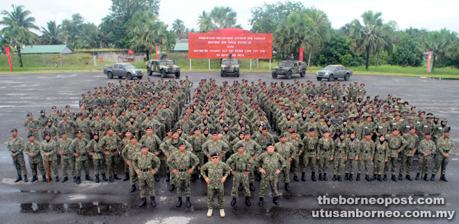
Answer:
<svg viewBox="0 0 459 224"><path fill-rule="evenodd" d="M172 28L159 19L159 0L112 0L111 13L95 25L79 13L61 24L48 21L38 27L31 12L24 6L12 5L2 10L5 26L1 46L11 46L20 58L22 46L34 44L69 44L74 49L115 48L145 52L147 58L156 45L173 49L177 40L188 33L209 33L220 28L241 28L237 13L230 7L216 6L198 13L195 28L186 28L176 19ZM398 28L396 21L383 19L381 12L368 10L358 19L334 29L328 15L318 8L306 8L303 3L285 1L264 3L251 9L252 33L273 33L273 57L284 60L299 55L304 48L307 64L344 64L348 67L380 64L421 67L424 53L432 51L435 67L459 68L458 33L446 28L428 31L424 28ZM42 31L37 35L33 31ZM19 60L20 61L20 60ZM20 65L22 67L22 64Z"/></svg>

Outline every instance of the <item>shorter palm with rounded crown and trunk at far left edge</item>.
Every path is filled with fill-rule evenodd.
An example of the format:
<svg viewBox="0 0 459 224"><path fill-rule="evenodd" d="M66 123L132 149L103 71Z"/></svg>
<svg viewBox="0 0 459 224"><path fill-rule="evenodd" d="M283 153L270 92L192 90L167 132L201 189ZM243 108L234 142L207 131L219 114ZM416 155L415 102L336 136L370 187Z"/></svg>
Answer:
<svg viewBox="0 0 459 224"><path fill-rule="evenodd" d="M22 67L22 46L33 45L35 36L26 28L20 26L13 26L10 28L5 35L3 35L2 42L8 43L8 46L16 49L17 55L19 56L19 67Z"/></svg>

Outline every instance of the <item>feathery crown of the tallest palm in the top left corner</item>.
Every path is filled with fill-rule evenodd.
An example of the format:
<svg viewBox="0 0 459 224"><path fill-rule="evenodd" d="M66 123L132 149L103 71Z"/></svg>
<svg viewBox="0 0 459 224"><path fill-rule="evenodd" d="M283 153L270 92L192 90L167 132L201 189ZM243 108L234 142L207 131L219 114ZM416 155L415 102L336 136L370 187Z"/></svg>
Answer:
<svg viewBox="0 0 459 224"><path fill-rule="evenodd" d="M8 12L6 10L2 10L0 12L1 15L5 15L3 19L0 21L0 25L6 26L1 29L0 35L3 35L6 31L13 28L13 26L19 26L21 28L25 28L26 30L40 30L38 26L33 24L35 22L34 17L29 17L31 15L31 11L24 10L24 6L16 6L11 5L13 7L12 12Z"/></svg>

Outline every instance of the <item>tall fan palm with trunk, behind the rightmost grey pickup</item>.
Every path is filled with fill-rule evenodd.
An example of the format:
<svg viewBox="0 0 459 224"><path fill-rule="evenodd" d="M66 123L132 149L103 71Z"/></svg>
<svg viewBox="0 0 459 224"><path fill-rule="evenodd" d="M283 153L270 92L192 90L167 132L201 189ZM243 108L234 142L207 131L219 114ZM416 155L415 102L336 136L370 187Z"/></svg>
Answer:
<svg viewBox="0 0 459 224"><path fill-rule="evenodd" d="M367 51L367 63L365 69L369 69L369 59L372 50L376 49L375 45L383 38L385 41L390 42L386 37L386 33L392 31L390 26L384 26L383 13L373 13L372 10L364 12L360 17L363 19L363 24L358 19L351 21L351 24L346 24L349 28L349 42L354 49L357 49L357 54L365 49ZM386 40L387 39L387 40Z"/></svg>

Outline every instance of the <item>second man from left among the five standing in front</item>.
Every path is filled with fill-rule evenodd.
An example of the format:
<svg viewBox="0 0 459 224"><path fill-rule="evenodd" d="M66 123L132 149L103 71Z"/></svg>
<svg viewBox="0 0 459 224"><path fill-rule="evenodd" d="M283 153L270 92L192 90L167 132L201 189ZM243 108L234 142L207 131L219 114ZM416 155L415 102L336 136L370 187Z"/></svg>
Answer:
<svg viewBox="0 0 459 224"><path fill-rule="evenodd" d="M184 187L186 207L191 207L190 176L199 165L199 158L190 151L185 150L185 141L180 141L178 146L179 150L172 153L168 158L168 164L170 164L172 173L175 174L175 184L177 184L177 197L179 197L179 201L176 206L180 207L182 205L182 187Z"/></svg>

